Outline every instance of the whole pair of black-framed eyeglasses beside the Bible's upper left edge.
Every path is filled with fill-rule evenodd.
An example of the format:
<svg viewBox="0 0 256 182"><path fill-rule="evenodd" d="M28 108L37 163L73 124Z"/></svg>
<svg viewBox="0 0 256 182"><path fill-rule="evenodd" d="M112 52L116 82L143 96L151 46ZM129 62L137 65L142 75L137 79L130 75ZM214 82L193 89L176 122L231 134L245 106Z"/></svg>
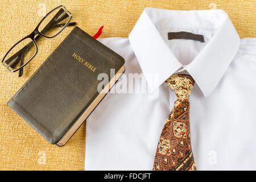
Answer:
<svg viewBox="0 0 256 182"><path fill-rule="evenodd" d="M70 23L72 14L63 5L50 11L36 26L30 35L19 40L9 49L2 59L2 64L11 72L19 71L19 77L23 74L26 66L38 53L38 41L42 36L48 39L55 38L67 26L75 26L76 22Z"/></svg>

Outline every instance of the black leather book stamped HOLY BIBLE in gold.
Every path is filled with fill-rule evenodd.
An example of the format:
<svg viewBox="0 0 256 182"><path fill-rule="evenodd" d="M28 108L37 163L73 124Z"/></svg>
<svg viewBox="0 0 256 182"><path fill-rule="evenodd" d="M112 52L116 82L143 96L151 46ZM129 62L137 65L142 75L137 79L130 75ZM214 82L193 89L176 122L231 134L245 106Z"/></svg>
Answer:
<svg viewBox="0 0 256 182"><path fill-rule="evenodd" d="M75 27L7 105L49 143L63 146L125 71L124 63Z"/></svg>

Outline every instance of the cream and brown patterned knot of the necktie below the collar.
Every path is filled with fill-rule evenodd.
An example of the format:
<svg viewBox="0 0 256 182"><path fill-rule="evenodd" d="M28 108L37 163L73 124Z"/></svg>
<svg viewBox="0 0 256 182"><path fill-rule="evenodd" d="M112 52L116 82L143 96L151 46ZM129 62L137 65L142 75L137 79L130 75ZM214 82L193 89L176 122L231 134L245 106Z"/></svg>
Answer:
<svg viewBox="0 0 256 182"><path fill-rule="evenodd" d="M167 78L166 84L175 92L178 100L188 99L195 80L187 74L174 74Z"/></svg>

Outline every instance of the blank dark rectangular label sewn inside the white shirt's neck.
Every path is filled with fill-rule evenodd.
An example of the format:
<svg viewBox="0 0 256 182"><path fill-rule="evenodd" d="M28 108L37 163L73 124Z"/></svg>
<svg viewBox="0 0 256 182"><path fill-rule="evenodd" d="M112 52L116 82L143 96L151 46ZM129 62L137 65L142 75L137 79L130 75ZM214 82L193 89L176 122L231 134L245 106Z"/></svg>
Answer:
<svg viewBox="0 0 256 182"><path fill-rule="evenodd" d="M204 42L204 36L199 34L193 34L191 32L168 32L168 40L172 39L188 39Z"/></svg>

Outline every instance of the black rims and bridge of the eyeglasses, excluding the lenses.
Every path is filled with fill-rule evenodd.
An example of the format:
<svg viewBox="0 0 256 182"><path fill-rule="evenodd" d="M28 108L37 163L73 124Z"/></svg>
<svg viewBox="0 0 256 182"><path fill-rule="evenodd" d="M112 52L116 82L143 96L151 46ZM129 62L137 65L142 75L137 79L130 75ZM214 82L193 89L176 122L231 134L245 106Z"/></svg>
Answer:
<svg viewBox="0 0 256 182"><path fill-rule="evenodd" d="M38 28L40 27L40 25L42 24L42 22L44 21L44 19L46 19L47 17L48 17L48 15L49 14L51 14L53 11L55 11L55 10L57 10L57 9L63 9L64 11L65 11L65 13L67 13L67 15L68 15L68 17L69 17L69 20L68 20L68 22L67 23L65 23L64 25L63 24L58 24L58 22L55 22L56 24L54 25L54 26L52 26L52 27L49 27L49 28L47 28L46 30L44 30L48 25L49 25L49 23L51 22L49 22L47 25L46 25L46 27L44 27L43 28L43 30L40 32L39 30L38 30ZM40 20L40 22L38 23L38 26L36 26L36 28L34 29L34 31L32 31L31 32L31 34L29 34L29 35L27 35L27 36L25 36L24 38L22 38L21 40L19 40L17 43L15 43L14 44L14 46L13 47L11 47L10 49L9 49L9 51L7 51L7 53L5 54L5 56L3 57L3 59L2 59L2 64L3 65L5 65L5 67L9 70L9 71L11 71L11 72L16 72L16 71L19 71L19 77L20 76L22 76L22 74L23 74L23 67L25 67L32 59L34 59L34 57L36 56L36 54L38 53L38 44L36 43L36 41L37 40L39 40L42 36L44 37L44 38L48 38L48 39L52 39L52 38L55 38L57 35L59 35L63 30L64 30L64 28L66 28L67 26L75 26L76 25L76 22L73 22L73 23L70 23L71 22L71 19L72 19L72 14L63 6L63 5L60 5L60 6L58 6L58 7L55 7L55 9L53 9L53 10L51 10L51 11L49 11L49 13L47 13L46 14L46 16L44 16L44 18L42 19L42 20ZM53 35L53 36L46 36L46 35L43 35L42 34L42 32L43 31L49 31L49 30L51 30L51 28L54 28L54 27L61 27L61 26L63 26L63 28L61 28L61 30L56 34L56 35ZM37 36L36 36L37 35ZM35 37L36 36L36 37ZM4 63L4 60L5 60L5 58L6 58L6 56L10 53L10 51L15 47L15 46L17 46L20 42L22 42L23 40L26 40L26 39L31 39L32 40L32 42L34 43L34 45L35 45L35 47L36 47L36 51L35 51L35 53L34 53L34 55L30 58L30 60L28 60L25 64L23 64L23 61L24 61L24 55L26 54L26 52L28 51L28 49L30 49L31 48L31 43L32 42L30 42L30 43L28 43L26 46L24 46L22 49L20 49L18 52L16 52L14 55L16 55L16 54L20 54L19 52L20 51L22 51L22 55L21 55L21 57L20 57L20 67L19 68L17 68L17 69L11 69L10 67L9 67L9 65L7 65L6 63ZM27 48L26 48L27 47ZM24 49L24 48L26 48L26 49ZM23 50L24 49L24 50ZM13 57L14 55L12 55L11 57ZM9 57L9 59L11 58L11 57ZM8 60L8 59L7 59Z"/></svg>

